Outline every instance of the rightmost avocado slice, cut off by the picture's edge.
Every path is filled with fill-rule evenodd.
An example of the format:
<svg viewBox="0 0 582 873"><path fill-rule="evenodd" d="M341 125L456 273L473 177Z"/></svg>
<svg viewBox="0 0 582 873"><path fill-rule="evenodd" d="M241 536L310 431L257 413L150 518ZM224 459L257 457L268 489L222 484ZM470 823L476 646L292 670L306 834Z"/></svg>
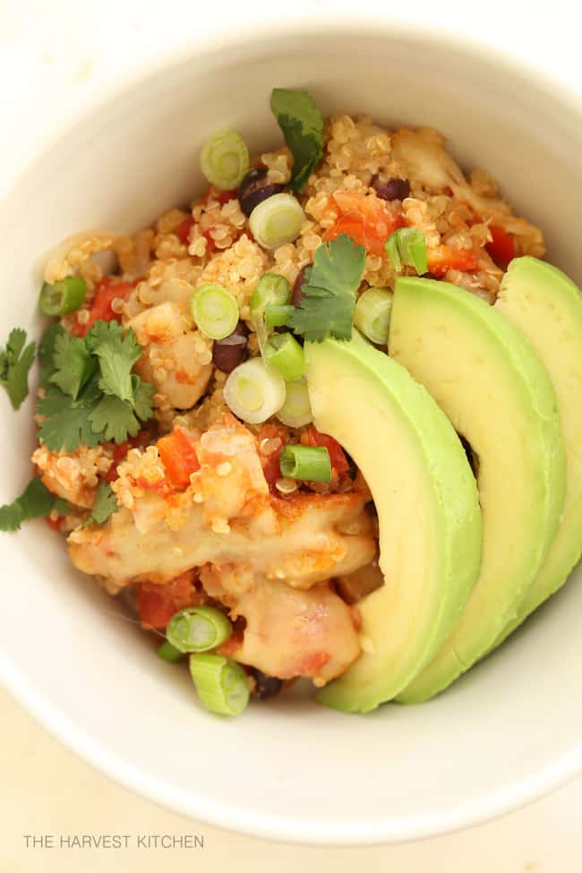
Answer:
<svg viewBox="0 0 582 873"><path fill-rule="evenodd" d="M566 449L566 497L558 533L499 645L564 584L582 554L582 295L561 270L536 258L516 258L495 309L525 334L550 374Z"/></svg>

